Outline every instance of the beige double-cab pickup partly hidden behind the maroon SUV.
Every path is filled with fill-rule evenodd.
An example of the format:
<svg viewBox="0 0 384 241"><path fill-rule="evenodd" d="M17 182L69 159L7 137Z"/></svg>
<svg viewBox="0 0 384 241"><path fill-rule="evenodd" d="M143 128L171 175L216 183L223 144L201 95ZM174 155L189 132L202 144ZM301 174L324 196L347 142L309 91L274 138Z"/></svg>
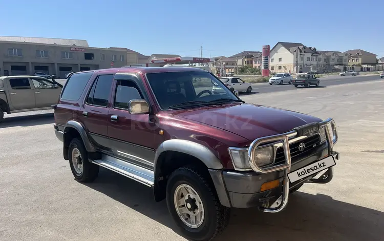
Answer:
<svg viewBox="0 0 384 241"><path fill-rule="evenodd" d="M0 77L0 121L4 112L51 109L57 104L62 85L52 80L32 75Z"/></svg>

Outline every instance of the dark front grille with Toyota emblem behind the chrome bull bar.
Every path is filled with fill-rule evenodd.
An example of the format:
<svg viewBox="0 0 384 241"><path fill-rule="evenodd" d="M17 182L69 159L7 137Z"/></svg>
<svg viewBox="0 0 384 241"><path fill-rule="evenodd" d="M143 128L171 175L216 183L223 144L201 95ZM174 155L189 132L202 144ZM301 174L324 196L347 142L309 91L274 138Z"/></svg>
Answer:
<svg viewBox="0 0 384 241"><path fill-rule="evenodd" d="M298 146L304 143L305 147L303 151L298 150ZM292 143L289 145L289 150L291 151L291 162L295 163L297 160L304 158L312 153L313 149L315 149L320 144L320 135L315 134L309 136L303 140L299 140L298 142ZM284 163L285 155L283 147L279 147L276 150L276 159L275 164Z"/></svg>

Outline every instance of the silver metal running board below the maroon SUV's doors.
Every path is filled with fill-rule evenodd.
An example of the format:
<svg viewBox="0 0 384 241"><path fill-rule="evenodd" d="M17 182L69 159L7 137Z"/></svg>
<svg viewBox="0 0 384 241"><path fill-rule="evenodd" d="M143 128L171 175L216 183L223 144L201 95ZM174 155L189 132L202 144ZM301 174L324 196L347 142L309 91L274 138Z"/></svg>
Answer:
<svg viewBox="0 0 384 241"><path fill-rule="evenodd" d="M144 184L148 187L154 186L154 172L131 163L124 162L115 157L102 155L101 159L93 160L94 164L117 172L123 176L129 177L136 182Z"/></svg>

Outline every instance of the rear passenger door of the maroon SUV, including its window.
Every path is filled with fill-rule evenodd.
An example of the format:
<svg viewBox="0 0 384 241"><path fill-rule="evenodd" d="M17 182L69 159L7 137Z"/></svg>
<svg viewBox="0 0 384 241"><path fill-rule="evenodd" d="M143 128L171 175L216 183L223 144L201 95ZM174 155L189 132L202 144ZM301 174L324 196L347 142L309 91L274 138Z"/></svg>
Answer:
<svg viewBox="0 0 384 241"><path fill-rule="evenodd" d="M95 77L86 101L79 113L79 121L86 127L91 142L100 150L108 151L108 109L113 74Z"/></svg>

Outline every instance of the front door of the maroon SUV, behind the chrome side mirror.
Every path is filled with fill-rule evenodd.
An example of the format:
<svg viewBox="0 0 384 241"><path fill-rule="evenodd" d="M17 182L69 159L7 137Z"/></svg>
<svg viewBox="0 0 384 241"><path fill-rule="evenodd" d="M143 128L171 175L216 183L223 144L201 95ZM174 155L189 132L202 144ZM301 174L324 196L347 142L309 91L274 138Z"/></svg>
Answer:
<svg viewBox="0 0 384 241"><path fill-rule="evenodd" d="M147 169L154 169L158 125L149 114L131 114L129 102L132 99L149 99L144 93L142 82L134 75L131 79L115 79L113 107L108 113L108 135L114 155L126 162Z"/></svg>

